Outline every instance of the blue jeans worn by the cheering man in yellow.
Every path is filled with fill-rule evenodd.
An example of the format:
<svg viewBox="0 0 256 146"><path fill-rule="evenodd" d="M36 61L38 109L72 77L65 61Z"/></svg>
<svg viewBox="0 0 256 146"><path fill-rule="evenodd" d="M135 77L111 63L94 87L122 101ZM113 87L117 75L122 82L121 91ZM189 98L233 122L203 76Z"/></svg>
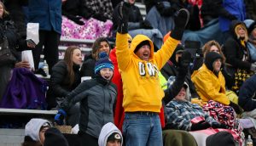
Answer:
<svg viewBox="0 0 256 146"><path fill-rule="evenodd" d="M125 146L162 146L162 129L158 114L125 113Z"/></svg>

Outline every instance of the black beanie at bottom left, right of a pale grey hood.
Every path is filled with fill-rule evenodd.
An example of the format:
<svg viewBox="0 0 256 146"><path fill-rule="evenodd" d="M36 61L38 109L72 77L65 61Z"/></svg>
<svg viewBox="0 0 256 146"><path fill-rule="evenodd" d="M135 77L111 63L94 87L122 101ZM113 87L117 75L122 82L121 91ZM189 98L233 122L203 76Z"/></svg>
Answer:
<svg viewBox="0 0 256 146"><path fill-rule="evenodd" d="M67 139L64 135L55 127L49 128L44 133L44 146L68 146Z"/></svg>

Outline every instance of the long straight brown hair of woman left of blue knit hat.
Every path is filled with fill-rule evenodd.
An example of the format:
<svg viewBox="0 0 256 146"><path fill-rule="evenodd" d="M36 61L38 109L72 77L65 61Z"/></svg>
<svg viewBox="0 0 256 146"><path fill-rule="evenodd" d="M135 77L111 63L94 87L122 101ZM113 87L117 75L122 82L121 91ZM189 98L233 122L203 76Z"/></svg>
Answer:
<svg viewBox="0 0 256 146"><path fill-rule="evenodd" d="M72 86L73 81L75 79L75 75L73 72L73 51L75 49L79 49L80 48L76 47L76 46L69 46L66 51L65 51L65 55L64 55L64 61L67 64L67 75L69 76L69 85Z"/></svg>

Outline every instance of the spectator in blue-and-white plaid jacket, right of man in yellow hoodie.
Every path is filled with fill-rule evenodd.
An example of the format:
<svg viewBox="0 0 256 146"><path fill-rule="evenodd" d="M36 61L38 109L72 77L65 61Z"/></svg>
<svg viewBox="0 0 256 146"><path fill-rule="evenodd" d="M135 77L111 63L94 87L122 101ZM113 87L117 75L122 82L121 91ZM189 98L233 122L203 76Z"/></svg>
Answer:
<svg viewBox="0 0 256 146"><path fill-rule="evenodd" d="M172 87L173 79L175 80L172 76L169 78L169 87ZM188 84L184 82L177 96L166 104L166 128L185 131L203 130L211 126L213 128L226 128L210 115L207 115L201 106L189 102L188 87ZM201 122L194 122L196 118L201 118Z"/></svg>

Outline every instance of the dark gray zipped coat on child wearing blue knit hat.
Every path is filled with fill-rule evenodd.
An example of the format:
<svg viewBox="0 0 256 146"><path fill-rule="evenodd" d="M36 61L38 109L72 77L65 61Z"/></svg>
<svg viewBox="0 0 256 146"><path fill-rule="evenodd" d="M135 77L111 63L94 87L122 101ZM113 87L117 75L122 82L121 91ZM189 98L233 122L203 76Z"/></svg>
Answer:
<svg viewBox="0 0 256 146"><path fill-rule="evenodd" d="M80 102L79 130L98 138L104 126L113 122L113 104L117 96L116 87L101 76L83 81L72 93L68 93L61 109L67 111Z"/></svg>

